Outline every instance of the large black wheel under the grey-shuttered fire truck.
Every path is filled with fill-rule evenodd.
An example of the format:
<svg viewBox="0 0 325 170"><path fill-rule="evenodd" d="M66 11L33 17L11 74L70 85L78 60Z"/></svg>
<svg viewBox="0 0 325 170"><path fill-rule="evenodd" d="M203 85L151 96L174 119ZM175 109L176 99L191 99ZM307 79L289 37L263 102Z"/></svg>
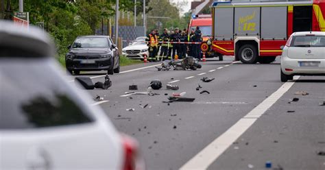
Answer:
<svg viewBox="0 0 325 170"><path fill-rule="evenodd" d="M243 45L239 48L239 60L245 64L255 64L257 62L257 50L254 45Z"/></svg>

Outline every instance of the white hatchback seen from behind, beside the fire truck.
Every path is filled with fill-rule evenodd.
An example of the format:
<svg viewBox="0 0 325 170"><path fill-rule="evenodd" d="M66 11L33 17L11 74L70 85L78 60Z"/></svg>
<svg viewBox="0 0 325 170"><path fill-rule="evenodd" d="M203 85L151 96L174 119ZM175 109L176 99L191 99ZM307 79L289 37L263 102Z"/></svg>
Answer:
<svg viewBox="0 0 325 170"><path fill-rule="evenodd" d="M293 33L281 49L281 82L293 75L325 75L325 32Z"/></svg>

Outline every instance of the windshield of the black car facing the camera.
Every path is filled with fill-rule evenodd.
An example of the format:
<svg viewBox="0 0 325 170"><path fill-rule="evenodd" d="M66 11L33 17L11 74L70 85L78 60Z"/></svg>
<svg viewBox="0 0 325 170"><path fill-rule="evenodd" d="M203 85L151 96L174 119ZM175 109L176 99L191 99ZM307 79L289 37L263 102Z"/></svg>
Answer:
<svg viewBox="0 0 325 170"><path fill-rule="evenodd" d="M87 37L77 38L73 42L73 48L93 48L93 47L108 47L107 38Z"/></svg>

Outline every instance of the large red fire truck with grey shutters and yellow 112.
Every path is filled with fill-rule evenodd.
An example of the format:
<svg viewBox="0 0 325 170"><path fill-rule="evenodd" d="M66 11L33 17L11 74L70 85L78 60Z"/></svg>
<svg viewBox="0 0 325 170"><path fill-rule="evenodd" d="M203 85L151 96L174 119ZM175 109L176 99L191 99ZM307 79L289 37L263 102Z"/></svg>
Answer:
<svg viewBox="0 0 325 170"><path fill-rule="evenodd" d="M213 50L243 63L274 62L293 32L325 31L325 0L214 2Z"/></svg>

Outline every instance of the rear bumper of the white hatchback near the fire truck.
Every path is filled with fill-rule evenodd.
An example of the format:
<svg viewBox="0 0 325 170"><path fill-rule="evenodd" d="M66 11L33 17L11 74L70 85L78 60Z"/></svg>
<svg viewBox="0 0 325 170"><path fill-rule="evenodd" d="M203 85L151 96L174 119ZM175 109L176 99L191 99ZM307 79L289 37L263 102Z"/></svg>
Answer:
<svg viewBox="0 0 325 170"><path fill-rule="evenodd" d="M299 62L320 62L320 64L319 66L300 66ZM281 56L281 70L286 75L325 75L325 59L293 59Z"/></svg>

